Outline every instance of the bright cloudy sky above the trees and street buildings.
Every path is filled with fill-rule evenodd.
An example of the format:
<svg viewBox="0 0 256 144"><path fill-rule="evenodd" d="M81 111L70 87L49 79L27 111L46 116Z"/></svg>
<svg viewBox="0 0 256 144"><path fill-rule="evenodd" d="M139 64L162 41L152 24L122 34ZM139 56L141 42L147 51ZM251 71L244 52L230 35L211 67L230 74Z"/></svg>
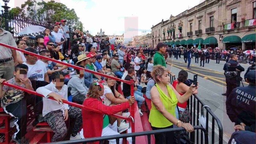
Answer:
<svg viewBox="0 0 256 144"><path fill-rule="evenodd" d="M8 6L20 7L26 0L10 0ZM39 1L39 0L38 0ZM50 0L44 0L50 1ZM102 29L106 35L133 35L151 32L152 25L176 16L204 0L55 0L74 8L84 29L96 35ZM4 5L0 1L0 5ZM144 32L145 33L145 32Z"/></svg>

